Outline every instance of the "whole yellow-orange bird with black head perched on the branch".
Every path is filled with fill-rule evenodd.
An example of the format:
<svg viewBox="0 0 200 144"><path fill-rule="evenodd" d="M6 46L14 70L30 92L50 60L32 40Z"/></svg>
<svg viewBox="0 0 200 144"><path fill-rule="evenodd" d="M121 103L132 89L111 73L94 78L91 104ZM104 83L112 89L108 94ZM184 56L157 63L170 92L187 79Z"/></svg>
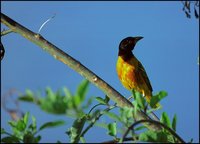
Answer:
<svg viewBox="0 0 200 144"><path fill-rule="evenodd" d="M127 37L120 42L116 70L119 80L127 90L138 91L150 103L153 88L142 63L132 52L141 39L141 36ZM152 108L157 109L160 106L157 103Z"/></svg>

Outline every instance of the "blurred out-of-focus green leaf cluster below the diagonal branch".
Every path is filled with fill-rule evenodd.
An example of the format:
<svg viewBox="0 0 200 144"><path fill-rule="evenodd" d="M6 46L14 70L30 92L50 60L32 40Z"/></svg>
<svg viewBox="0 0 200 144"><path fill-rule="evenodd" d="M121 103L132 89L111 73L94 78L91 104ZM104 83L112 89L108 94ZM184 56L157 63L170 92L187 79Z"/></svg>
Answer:
<svg viewBox="0 0 200 144"><path fill-rule="evenodd" d="M44 97L41 96L40 92L34 94L31 90L26 90L26 93L20 96L19 100L37 104L43 111L51 114L67 114L68 116L78 117L84 113L83 110L88 108L92 101L91 98L85 105L83 104L88 86L89 82L84 80L77 87L74 95L66 87L57 92L53 92L51 88L47 87Z"/></svg>

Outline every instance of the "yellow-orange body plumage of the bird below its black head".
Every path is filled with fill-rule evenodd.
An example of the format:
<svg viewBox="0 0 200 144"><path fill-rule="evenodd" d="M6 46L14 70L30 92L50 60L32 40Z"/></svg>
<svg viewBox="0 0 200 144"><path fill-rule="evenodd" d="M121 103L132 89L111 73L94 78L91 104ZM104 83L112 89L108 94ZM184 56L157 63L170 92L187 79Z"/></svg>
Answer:
<svg viewBox="0 0 200 144"><path fill-rule="evenodd" d="M128 90L140 92L150 102L152 97L152 87L142 64L133 55L125 61L122 56L118 56L117 74L122 85ZM157 104L155 108L159 107Z"/></svg>

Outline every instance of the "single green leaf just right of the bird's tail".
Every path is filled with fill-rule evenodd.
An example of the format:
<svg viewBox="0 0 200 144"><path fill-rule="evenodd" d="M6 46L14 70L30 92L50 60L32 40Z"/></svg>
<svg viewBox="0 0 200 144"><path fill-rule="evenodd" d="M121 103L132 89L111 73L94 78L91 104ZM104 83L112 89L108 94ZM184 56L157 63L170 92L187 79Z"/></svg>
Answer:
<svg viewBox="0 0 200 144"><path fill-rule="evenodd" d="M151 107L155 107L155 105L157 103L159 103L159 101L161 101L164 97L167 96L167 92L165 91L160 91L158 94L156 94L155 96L153 96L150 100L150 106Z"/></svg>

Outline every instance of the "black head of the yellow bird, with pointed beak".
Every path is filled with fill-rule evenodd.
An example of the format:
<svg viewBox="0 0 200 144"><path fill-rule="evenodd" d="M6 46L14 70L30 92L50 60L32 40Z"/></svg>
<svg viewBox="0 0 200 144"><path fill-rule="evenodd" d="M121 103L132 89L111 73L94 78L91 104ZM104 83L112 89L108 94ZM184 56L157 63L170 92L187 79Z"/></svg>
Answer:
<svg viewBox="0 0 200 144"><path fill-rule="evenodd" d="M138 37L127 37L123 39L119 44L119 51L131 52L134 49L136 43L142 38L143 37L138 36Z"/></svg>

